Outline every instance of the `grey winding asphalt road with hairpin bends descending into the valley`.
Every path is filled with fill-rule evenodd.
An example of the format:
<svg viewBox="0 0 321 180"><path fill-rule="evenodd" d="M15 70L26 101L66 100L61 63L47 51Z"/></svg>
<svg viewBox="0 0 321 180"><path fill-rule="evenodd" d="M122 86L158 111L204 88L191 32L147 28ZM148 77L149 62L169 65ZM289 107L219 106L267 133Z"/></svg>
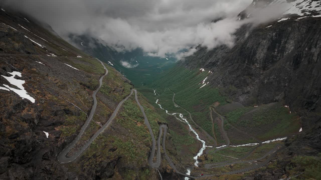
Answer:
<svg viewBox="0 0 321 180"><path fill-rule="evenodd" d="M98 60L98 59L97 59ZM99 60L98 60L99 61ZM163 147L163 150L164 150L164 154L165 154L165 157L169 163L169 165L171 166L171 168L173 168L176 173L182 175L182 176L185 176L185 177L188 177L190 179L198 179L198 178L202 178L202 177L206 177L206 176L217 176L217 175L223 175L223 174L236 174L236 173L240 173L240 172L245 172L245 171L249 171L251 169L254 169L254 168L258 168L258 167L261 167L261 166L264 166L266 163L268 163L272 158L273 156L281 149L284 149L285 146L282 145L282 144L277 144L277 146L269 151L268 153L265 154L265 156L261 157L261 158L258 158L256 160L261 160L261 159L264 159L267 155L270 155L267 160L265 160L264 162L260 163L260 164L257 164L257 165L254 165L254 166L251 166L251 167L248 167L248 168L244 168L244 169L239 169L239 170L236 170L236 171L231 171L231 172L225 172L225 173L220 173L220 174L214 174L214 175L211 175L211 174L204 174L204 176L202 177L195 177L195 176L190 176L190 175L186 175L185 173L182 173L180 171L178 171L175 167L175 165L172 163L172 161L170 160L169 156L167 155L167 152L166 152L166 147L165 147L165 144L166 144L166 134L167 134L167 129L168 127L164 124L160 125L159 126L159 136L158 136L158 140L157 140L157 160L156 162L154 163L153 162L153 158L154 158L154 155L155 155L155 148L156 148L156 141L155 141L155 137L153 135L153 132L152 132L152 128L149 124L149 121L146 117L146 114L145 114L145 111L144 111L144 108L143 106L139 103L138 101L138 98L137 98L137 91L135 89L132 89L131 90L131 93L125 98L123 99L121 102L119 102L119 104L117 105L115 111L113 112L113 114L111 115L111 117L108 119L108 121L104 124L103 127L101 127L91 138L90 140L85 143L85 145L79 150L77 151L73 156L71 157L66 157L67 153L74 147L74 145L78 142L78 140L80 139L81 135L83 134L83 132L85 131L86 127L88 126L88 124L91 122L91 119L94 115L94 112L96 110L96 107L97 107L97 99L96 99L96 94L97 92L99 91L101 85L102 85L102 79L108 74L108 70L106 69L105 65L100 61L100 63L102 64L102 66L105 68L106 70L106 73L105 75L103 75L99 82L100 82L100 85L99 87L94 91L94 93L92 94L92 97L94 99L94 103L93 103L93 106L91 108L91 112L90 112L90 115L88 116L86 122L84 123L84 125L82 126L82 129L80 131L80 133L77 135L77 137L74 139L74 141L72 143L70 143L67 147L65 147L65 149L63 151L61 151L58 156L57 156L57 160L58 162L60 163L68 163L68 162L71 162L73 160L75 160L80 154L82 154L83 151L86 150L86 148L96 139L96 137L98 135L100 135L100 133L102 133L110 124L110 122L115 118L115 116L117 115L117 112L118 110L120 109L121 105L133 94L135 93L135 100L138 104L138 106L140 107L142 113L143 113L143 116L144 116L144 123L146 124L146 126L148 127L149 129L149 132L151 134L151 137L152 137L152 150L151 150L151 153L150 153L150 156L148 158L148 163L150 165L150 167L152 168L158 168L160 166L160 161L161 161L161 157L160 157L160 139L161 139L161 136L163 134L163 130L164 130L164 134L163 134L163 141L162 141L162 147ZM170 90L170 89L169 89ZM172 91L173 92L173 91ZM174 92L173 92L174 93ZM174 96L175 96L175 93L174 93ZM174 96L173 96L173 102L174 102ZM174 102L175 103L175 102ZM184 108L182 108L184 109ZM184 109L185 110L185 109ZM187 111L187 110L186 110ZM188 111L187 111L188 112ZM189 113L189 112L188 112ZM190 115L190 118L191 118L191 114L189 113ZM221 117L220 117L221 118ZM191 120L193 121L193 119L191 118ZM222 127L223 127L223 123L224 123L224 119L221 119L222 120ZM193 121L194 122L194 121ZM194 124L199 127L195 122ZM201 127L199 127L200 129L202 129ZM203 130L203 129L202 129ZM204 131L204 130L203 130ZM206 133L206 131L204 131ZM224 131L225 132L225 131ZM209 137L212 137L210 136L208 133L206 133ZM226 132L225 132L225 135L226 135ZM227 135L226 135L227 136ZM228 137L227 137L228 138ZM215 142L216 144L216 141L215 139L212 137L211 139L213 139L213 141ZM229 141L228 141L228 144L229 144ZM272 152L273 151L273 152ZM250 161L237 161L237 162L230 162L230 163L227 163L227 164L222 164L220 166L227 166L227 165L230 165L230 164L233 164L233 163L246 163L246 162L251 162L251 161L255 161L255 160L250 160Z"/></svg>

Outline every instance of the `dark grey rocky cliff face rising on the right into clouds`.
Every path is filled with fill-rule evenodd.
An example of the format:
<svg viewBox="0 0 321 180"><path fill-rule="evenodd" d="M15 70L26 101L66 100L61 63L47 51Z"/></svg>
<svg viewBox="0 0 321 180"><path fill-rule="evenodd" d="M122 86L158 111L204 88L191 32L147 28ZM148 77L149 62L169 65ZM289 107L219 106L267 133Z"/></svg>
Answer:
<svg viewBox="0 0 321 180"><path fill-rule="evenodd" d="M311 9L320 8L321 2L290 3L303 14L285 12L289 19L280 17L255 28L245 25L235 33L232 48L208 50L200 45L195 54L179 64L211 70L207 78L210 84L235 102L288 105L299 114L305 129L305 134L287 144L289 154L315 155L321 151L321 17L320 11ZM248 16L247 11L239 14L240 20Z"/></svg>

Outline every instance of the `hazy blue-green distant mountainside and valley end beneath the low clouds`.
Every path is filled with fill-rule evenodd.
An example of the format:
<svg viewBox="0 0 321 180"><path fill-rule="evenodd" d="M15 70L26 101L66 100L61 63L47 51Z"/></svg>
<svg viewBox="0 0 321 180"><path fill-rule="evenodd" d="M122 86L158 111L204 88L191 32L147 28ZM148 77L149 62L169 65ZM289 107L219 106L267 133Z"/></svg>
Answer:
<svg viewBox="0 0 321 180"><path fill-rule="evenodd" d="M132 81L135 86L152 84L152 79L164 70L174 66L173 57L153 57L144 53L141 48L132 51L117 52L102 39L90 35L69 35L69 41L84 52L104 61ZM121 48L121 46L120 46Z"/></svg>

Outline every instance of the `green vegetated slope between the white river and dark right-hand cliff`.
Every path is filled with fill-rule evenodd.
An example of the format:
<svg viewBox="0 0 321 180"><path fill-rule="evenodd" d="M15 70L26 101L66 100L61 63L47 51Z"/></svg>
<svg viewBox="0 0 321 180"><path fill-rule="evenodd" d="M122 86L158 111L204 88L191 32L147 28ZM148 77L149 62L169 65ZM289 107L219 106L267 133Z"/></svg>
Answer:
<svg viewBox="0 0 321 180"><path fill-rule="evenodd" d="M188 110L191 113L193 120L213 136L212 122L209 117L209 106L214 102L219 102L220 105L223 105L226 103L226 98L219 94L217 88L213 88L210 85L206 85L200 89L202 85L198 84L201 83L208 75L208 71L200 73L198 69L191 71L176 66L168 73L159 76L154 83L157 86L157 92L160 94L159 98L162 99L160 104L165 109L172 107L167 110L171 112L178 111L178 108L174 108L173 106L173 93L169 90L164 92L165 88L169 87L170 90L176 93L174 101L179 106ZM155 87L150 86L150 88ZM143 94L145 94L144 91ZM166 101L164 102L165 99ZM185 112L185 114L187 113Z"/></svg>

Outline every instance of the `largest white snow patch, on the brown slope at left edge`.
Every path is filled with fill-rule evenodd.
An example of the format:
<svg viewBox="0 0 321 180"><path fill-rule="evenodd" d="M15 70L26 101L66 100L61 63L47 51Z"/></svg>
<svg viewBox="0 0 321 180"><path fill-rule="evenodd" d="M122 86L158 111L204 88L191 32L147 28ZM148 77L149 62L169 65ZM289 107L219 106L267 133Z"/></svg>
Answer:
<svg viewBox="0 0 321 180"><path fill-rule="evenodd" d="M25 83L25 81L14 78L16 75L19 76L19 77L22 77L21 73L17 72L17 71L8 72L8 73L11 74L12 76L10 76L10 77L4 76L4 75L1 75L1 76L4 77L5 79L7 79L7 81L9 81L10 84L12 84L14 86L17 86L19 89L15 89L15 88L9 87L8 85L5 85L5 84L3 84L3 86L5 86L7 89L10 89L14 93L18 94L20 97L22 97L22 99L28 99L32 103L34 103L35 99L32 98L30 95L28 95L27 91L22 86Z"/></svg>

